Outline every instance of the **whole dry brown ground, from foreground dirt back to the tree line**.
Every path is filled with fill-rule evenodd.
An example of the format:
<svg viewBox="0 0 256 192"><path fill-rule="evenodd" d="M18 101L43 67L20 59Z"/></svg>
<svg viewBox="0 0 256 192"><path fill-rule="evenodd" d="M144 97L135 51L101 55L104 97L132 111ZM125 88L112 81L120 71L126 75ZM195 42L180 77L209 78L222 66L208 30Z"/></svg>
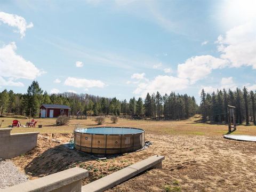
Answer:
<svg viewBox="0 0 256 192"><path fill-rule="evenodd" d="M4 118L11 124L13 118ZM19 119L26 123L26 119ZM146 140L153 145L146 150L97 161L86 153L70 150L52 138L67 142L75 124L97 126L94 119L71 119L67 126L52 126L55 119L38 119L43 128L14 128L12 132L39 131L38 146L13 159L31 179L73 166L89 170L83 183L104 177L151 155L163 155L162 170L149 170L109 191L253 191L256 186L256 143L223 139L227 125L186 121L132 121L106 119L103 126L139 127L146 130ZM238 126L233 134L256 135L256 126ZM45 138L47 137L47 138Z"/></svg>

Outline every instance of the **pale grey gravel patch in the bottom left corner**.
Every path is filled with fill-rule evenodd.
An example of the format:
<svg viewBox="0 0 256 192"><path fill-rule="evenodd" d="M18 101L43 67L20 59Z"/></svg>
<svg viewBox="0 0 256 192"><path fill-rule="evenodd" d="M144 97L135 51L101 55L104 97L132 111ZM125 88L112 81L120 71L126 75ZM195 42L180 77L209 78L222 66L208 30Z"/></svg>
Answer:
<svg viewBox="0 0 256 192"><path fill-rule="evenodd" d="M0 161L0 189L26 181L27 176L21 173L11 160Z"/></svg>

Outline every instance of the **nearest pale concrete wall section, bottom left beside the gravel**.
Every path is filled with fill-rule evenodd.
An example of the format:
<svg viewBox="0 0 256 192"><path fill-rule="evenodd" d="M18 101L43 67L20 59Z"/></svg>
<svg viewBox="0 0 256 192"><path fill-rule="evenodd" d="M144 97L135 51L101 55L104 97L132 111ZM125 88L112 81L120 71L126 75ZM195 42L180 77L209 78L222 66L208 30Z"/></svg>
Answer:
<svg viewBox="0 0 256 192"><path fill-rule="evenodd" d="M0 192L80 192L82 179L88 177L89 172L82 168L72 168L45 177L20 183Z"/></svg>

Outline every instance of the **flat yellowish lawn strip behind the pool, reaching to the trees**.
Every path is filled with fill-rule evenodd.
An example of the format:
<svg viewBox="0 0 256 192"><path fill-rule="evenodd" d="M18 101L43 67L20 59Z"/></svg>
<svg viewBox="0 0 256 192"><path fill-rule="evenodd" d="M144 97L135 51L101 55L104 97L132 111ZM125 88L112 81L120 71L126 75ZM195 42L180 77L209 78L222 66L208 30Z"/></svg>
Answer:
<svg viewBox="0 0 256 192"><path fill-rule="evenodd" d="M4 117L0 118L0 121L4 120L2 123L2 128L8 127L12 124L13 119L18 119L22 125L25 125L29 119L25 118L13 118ZM119 119L117 123L113 124L110 118L105 119L103 125L97 125L93 117L87 119L70 119L68 125L65 126L55 126L55 118L36 118L37 122L36 128L33 127L13 127L12 133L22 133L22 132L40 132L40 133L71 133L74 130L76 124L81 124L81 127L94 127L94 126L125 126L125 127L138 127L144 129L146 133L156 133L156 134L171 134L171 135L223 135L228 132L227 125L216 125L207 123L197 123L199 116L183 120L183 121L145 121L145 120L130 120L130 119ZM42 128L38 128L38 125L43 125ZM248 134L256 135L256 126L250 125L239 125L237 130L232 134Z"/></svg>

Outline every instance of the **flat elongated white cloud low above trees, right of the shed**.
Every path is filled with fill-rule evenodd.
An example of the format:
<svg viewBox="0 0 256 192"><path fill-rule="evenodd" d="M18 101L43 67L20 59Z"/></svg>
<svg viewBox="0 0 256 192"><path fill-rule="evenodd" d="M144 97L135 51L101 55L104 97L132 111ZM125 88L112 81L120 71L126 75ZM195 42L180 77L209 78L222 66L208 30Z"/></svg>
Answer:
<svg viewBox="0 0 256 192"><path fill-rule="evenodd" d="M75 77L68 77L64 85L67 86L74 86L77 88L90 88L90 87L104 87L105 83L99 81L99 80L91 80L91 79L85 79L85 78L75 78Z"/></svg>

